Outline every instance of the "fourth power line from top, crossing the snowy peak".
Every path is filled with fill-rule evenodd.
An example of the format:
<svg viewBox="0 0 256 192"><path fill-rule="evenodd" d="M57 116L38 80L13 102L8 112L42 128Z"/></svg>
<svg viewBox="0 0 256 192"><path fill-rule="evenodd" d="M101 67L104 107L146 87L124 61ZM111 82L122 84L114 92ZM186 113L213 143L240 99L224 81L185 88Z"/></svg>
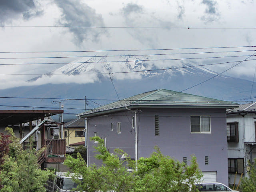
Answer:
<svg viewBox="0 0 256 192"><path fill-rule="evenodd" d="M0 64L0 65L36 65L36 64L78 64L78 63L113 63L113 62L140 62L140 61L172 61L172 60L188 60L188 59L213 59L213 58L231 58L245 57L250 55L240 56L221 56L221 57L204 57L204 58L178 58L178 59L146 59L146 60L130 60L130 61L92 61L92 62L59 62L59 63L21 63L21 64Z"/></svg>

